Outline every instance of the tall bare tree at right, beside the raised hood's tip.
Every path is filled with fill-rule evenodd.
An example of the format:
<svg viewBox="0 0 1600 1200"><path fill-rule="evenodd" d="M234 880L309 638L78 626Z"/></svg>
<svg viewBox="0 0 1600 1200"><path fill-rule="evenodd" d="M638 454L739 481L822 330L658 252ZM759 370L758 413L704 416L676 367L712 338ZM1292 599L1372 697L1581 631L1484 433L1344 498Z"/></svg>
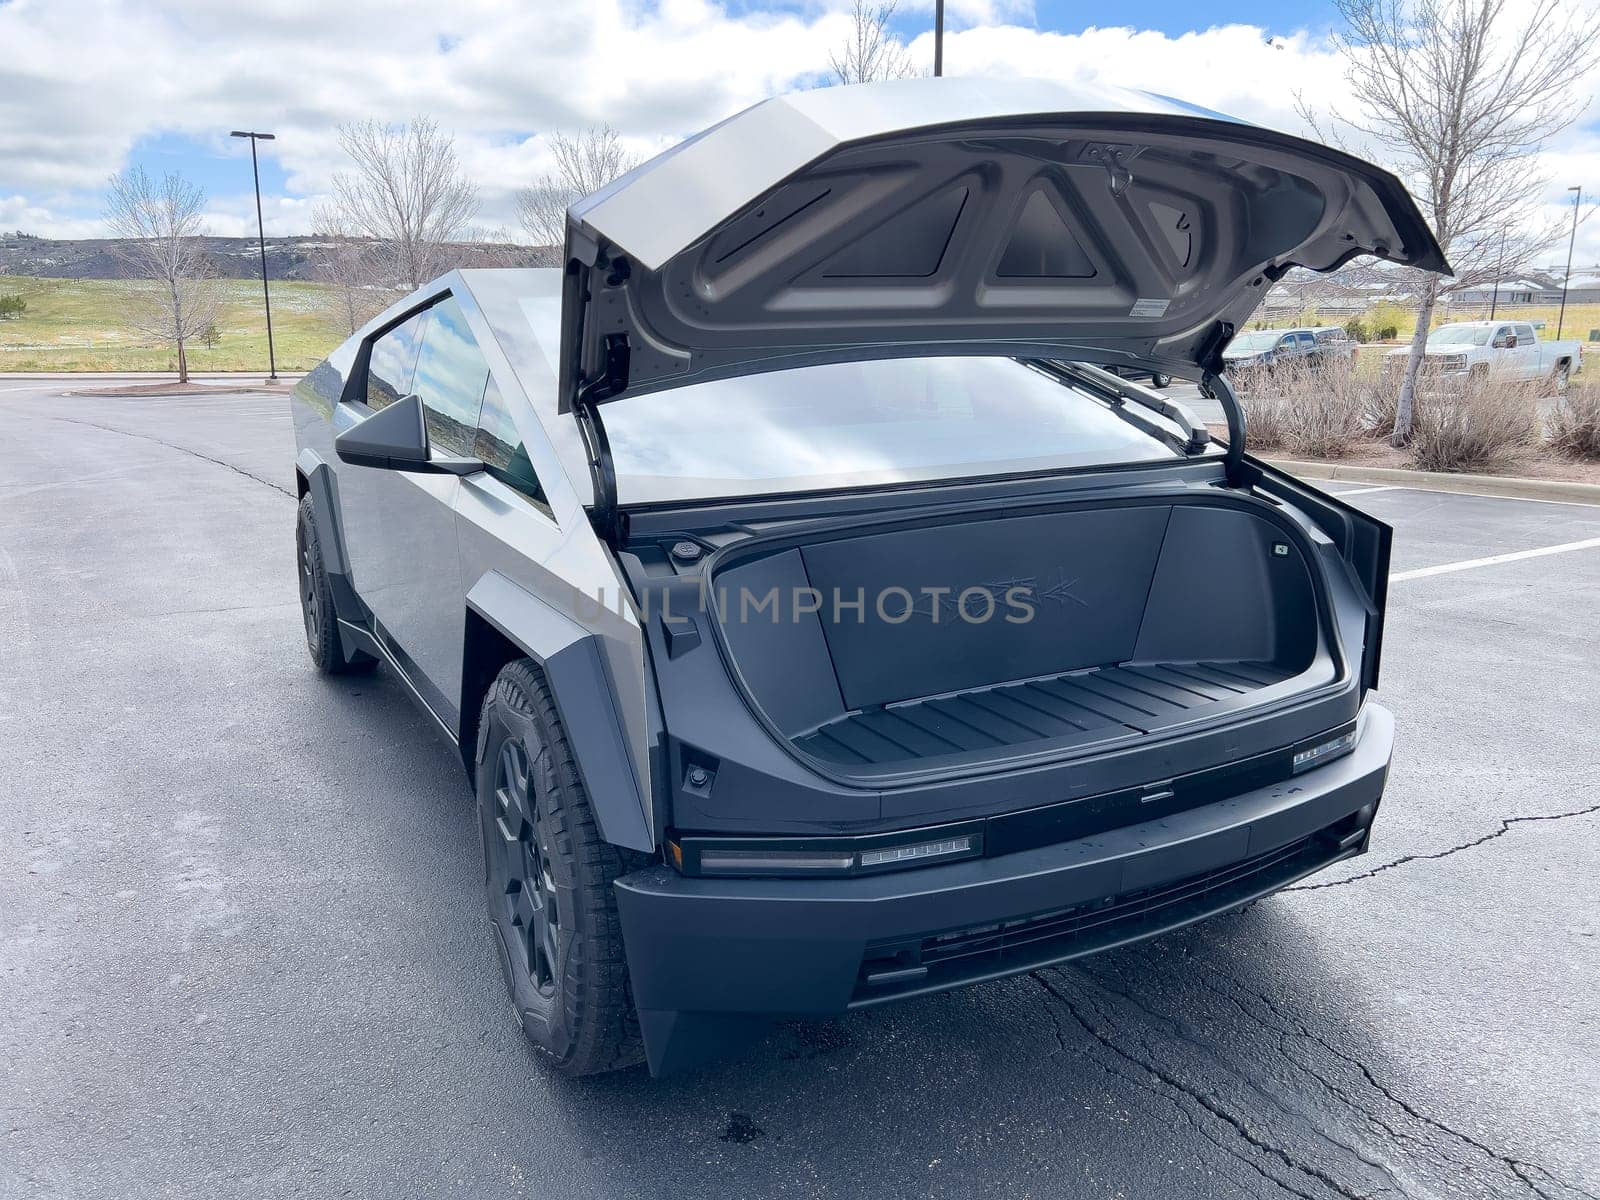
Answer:
<svg viewBox="0 0 1600 1200"><path fill-rule="evenodd" d="M1594 14L1571 0L1334 0L1358 112L1339 122L1411 187L1456 270L1413 272L1416 334L1394 443L1411 437L1422 346L1440 294L1522 270L1554 230L1530 226L1544 179L1530 158L1582 112L1573 85L1594 66ZM1317 120L1304 102L1301 115ZM1504 243L1504 253L1501 250Z"/></svg>

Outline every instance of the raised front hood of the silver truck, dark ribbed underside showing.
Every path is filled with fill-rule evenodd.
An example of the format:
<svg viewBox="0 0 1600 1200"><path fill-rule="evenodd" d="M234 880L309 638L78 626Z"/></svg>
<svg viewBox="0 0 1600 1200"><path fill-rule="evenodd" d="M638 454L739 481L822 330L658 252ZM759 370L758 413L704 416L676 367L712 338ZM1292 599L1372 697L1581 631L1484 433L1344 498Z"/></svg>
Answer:
<svg viewBox="0 0 1600 1200"><path fill-rule="evenodd" d="M1179 101L806 91L573 205L560 406L928 354L1214 371L1272 280L1363 253L1448 270L1387 171Z"/></svg>

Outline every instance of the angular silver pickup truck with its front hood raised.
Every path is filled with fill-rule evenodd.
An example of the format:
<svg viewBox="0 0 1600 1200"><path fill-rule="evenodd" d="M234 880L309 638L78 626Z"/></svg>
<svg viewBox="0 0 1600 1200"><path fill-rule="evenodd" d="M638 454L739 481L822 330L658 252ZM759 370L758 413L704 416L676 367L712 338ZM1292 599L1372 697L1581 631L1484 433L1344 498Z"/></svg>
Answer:
<svg viewBox="0 0 1600 1200"><path fill-rule="evenodd" d="M1389 528L1243 453L1221 349L1374 250L1445 267L1394 176L1178 101L819 90L312 370L306 642L459 747L538 1053L675 1070L1363 853Z"/></svg>

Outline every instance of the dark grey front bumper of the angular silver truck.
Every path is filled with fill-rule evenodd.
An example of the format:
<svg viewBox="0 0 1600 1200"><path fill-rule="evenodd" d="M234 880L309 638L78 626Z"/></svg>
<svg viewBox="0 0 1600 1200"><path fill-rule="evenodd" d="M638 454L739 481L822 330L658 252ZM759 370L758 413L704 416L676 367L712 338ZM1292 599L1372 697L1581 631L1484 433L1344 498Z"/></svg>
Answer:
<svg viewBox="0 0 1600 1200"><path fill-rule="evenodd" d="M1355 749L1291 781L998 858L864 878L618 880L650 1067L694 1066L773 1018L827 1016L1152 938L1366 848L1394 744L1368 704Z"/></svg>

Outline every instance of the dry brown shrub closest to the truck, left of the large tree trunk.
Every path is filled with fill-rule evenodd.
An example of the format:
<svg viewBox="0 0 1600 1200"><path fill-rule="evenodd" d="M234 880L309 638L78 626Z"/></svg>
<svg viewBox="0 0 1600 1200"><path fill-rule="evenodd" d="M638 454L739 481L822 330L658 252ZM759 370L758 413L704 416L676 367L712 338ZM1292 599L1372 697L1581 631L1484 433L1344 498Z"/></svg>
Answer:
<svg viewBox="0 0 1600 1200"><path fill-rule="evenodd" d="M1294 458L1344 458L1373 389L1349 360L1278 366L1251 382L1243 397L1250 443Z"/></svg>

